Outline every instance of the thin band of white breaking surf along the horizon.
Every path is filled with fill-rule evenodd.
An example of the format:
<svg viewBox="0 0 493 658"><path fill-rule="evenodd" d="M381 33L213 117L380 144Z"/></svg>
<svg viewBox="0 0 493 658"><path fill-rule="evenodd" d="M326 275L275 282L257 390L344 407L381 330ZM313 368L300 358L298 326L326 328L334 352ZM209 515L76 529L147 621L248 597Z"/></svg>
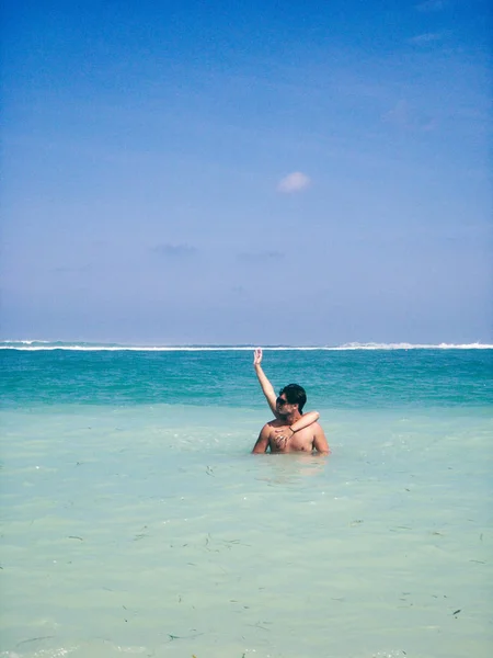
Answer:
<svg viewBox="0 0 493 658"><path fill-rule="evenodd" d="M50 342L41 340L1 341L0 350L19 351L54 351L66 350L72 352L241 352L251 351L254 345L121 345L104 343L69 343ZM489 343L358 343L351 342L342 345L267 345L270 351L356 351L356 350L493 350Z"/></svg>

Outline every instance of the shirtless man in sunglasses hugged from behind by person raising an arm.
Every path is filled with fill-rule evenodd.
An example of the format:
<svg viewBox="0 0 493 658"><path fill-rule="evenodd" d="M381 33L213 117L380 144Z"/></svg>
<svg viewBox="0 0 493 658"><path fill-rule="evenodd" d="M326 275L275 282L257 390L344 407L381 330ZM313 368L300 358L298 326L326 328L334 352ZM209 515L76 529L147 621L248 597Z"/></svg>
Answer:
<svg viewBox="0 0 493 658"><path fill-rule="evenodd" d="M291 453L307 452L329 454L330 449L322 428L317 422L320 413L309 411L302 413L307 401L305 388L298 384L288 384L276 396L271 382L262 370L262 350L257 349L253 356L253 366L260 385L275 416L261 430L253 447L253 453Z"/></svg>

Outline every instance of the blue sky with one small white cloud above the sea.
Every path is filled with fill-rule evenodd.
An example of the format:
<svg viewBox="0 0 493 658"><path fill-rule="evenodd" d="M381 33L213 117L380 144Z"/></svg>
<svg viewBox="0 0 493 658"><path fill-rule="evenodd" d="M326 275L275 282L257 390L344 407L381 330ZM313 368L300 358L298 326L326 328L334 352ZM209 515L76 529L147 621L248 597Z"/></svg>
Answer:
<svg viewBox="0 0 493 658"><path fill-rule="evenodd" d="M493 342L491 30L488 0L4 0L1 338Z"/></svg>

